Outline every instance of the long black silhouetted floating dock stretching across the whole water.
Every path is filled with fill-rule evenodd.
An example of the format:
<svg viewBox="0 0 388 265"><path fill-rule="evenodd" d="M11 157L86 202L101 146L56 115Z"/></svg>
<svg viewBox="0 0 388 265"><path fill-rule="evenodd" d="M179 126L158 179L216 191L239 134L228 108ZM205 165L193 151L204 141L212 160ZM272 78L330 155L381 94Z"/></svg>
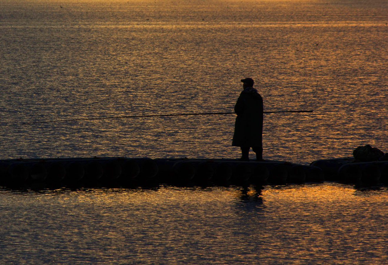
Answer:
<svg viewBox="0 0 388 265"><path fill-rule="evenodd" d="M388 184L388 161L355 163L352 158L310 165L281 161L150 159L125 157L0 160L0 186L125 188L161 184L229 186L339 181ZM44 186L43 185L43 186Z"/></svg>

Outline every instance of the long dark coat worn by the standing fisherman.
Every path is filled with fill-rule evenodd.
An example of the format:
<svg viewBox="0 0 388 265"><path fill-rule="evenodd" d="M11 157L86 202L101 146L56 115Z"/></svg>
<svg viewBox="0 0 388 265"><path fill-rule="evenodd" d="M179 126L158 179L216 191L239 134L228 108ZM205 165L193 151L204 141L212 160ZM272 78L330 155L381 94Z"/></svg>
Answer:
<svg viewBox="0 0 388 265"><path fill-rule="evenodd" d="M232 146L262 147L263 98L254 88L241 92L234 106L236 123Z"/></svg>

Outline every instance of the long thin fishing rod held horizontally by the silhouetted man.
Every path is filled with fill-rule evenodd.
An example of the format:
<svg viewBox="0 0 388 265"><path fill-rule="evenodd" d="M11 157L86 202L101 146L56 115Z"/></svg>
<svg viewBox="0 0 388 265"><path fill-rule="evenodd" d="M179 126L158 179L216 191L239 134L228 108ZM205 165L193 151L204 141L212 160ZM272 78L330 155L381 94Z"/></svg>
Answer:
<svg viewBox="0 0 388 265"><path fill-rule="evenodd" d="M300 113L313 112L312 110L280 110L280 111L265 111L263 113ZM168 116L189 116L189 115L223 115L236 114L235 112L204 112L204 113L178 113L178 114L151 114L151 115L131 115L131 116L113 116L113 117L98 117L98 118L78 118L67 120L42 120L37 122L23 122L22 125L37 124L37 123L54 123L54 122L69 122L76 120L103 120L103 119L124 119L124 118L143 118L143 117L168 117Z"/></svg>

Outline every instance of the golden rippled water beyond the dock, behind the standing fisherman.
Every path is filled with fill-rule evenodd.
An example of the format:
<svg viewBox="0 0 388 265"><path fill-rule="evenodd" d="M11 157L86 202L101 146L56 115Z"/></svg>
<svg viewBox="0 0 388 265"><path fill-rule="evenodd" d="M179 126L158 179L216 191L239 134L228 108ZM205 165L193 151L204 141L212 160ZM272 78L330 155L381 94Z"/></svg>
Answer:
<svg viewBox="0 0 388 265"><path fill-rule="evenodd" d="M388 151L386 1L1 1L2 158L237 158L232 112L255 79L264 157Z"/></svg>

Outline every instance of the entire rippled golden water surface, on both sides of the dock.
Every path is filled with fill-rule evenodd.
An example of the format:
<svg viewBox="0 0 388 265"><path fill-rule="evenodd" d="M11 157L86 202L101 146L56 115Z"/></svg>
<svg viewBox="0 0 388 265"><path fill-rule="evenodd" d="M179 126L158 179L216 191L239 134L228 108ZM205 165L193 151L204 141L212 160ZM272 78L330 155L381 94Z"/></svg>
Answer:
<svg viewBox="0 0 388 265"><path fill-rule="evenodd" d="M62 8L61 8L61 6ZM0 0L0 158L236 158L252 77L264 157L388 151L386 1ZM387 190L323 183L0 191L8 263L384 264Z"/></svg>

